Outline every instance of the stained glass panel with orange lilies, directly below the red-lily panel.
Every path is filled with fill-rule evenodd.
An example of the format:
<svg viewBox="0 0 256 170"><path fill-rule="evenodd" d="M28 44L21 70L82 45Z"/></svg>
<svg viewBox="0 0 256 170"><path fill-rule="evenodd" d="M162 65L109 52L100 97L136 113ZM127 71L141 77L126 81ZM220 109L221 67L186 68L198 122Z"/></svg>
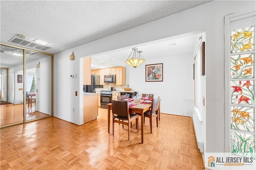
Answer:
<svg viewBox="0 0 256 170"><path fill-rule="evenodd" d="M231 128L254 132L254 108L232 106Z"/></svg>

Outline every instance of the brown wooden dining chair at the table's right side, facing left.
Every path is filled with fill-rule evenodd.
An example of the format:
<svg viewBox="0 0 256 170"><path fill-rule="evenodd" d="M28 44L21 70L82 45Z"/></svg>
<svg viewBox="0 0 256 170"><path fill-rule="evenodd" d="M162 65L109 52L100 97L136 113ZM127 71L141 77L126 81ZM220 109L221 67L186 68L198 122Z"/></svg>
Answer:
<svg viewBox="0 0 256 170"><path fill-rule="evenodd" d="M144 123L145 123L145 117L149 118L150 133L152 133L152 119L154 117L156 117L156 127L158 127L159 103L160 103L160 97L152 99L151 109L144 113Z"/></svg>

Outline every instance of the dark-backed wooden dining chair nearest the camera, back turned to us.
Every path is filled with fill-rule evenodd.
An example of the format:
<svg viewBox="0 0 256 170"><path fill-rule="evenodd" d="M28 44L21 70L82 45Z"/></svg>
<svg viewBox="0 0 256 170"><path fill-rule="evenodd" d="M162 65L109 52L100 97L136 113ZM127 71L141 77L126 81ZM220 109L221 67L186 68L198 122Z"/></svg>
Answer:
<svg viewBox="0 0 256 170"><path fill-rule="evenodd" d="M121 123L128 126L128 140L130 140L130 126L129 123L136 120L136 129L139 132L138 119L139 115L136 113L130 113L128 101L116 101L112 99L112 118L113 118L113 135L114 135L114 124ZM118 119L118 120L117 120ZM122 121L120 121L122 120ZM128 121L128 122L126 122Z"/></svg>

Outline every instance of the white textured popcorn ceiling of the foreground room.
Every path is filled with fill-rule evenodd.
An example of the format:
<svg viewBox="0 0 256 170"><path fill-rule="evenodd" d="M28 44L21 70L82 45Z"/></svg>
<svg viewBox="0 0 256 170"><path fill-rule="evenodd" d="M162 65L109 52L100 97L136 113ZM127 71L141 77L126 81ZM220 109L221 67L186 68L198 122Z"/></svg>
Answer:
<svg viewBox="0 0 256 170"><path fill-rule="evenodd" d="M206 2L0 0L0 41L23 34L49 42L44 52L55 54Z"/></svg>

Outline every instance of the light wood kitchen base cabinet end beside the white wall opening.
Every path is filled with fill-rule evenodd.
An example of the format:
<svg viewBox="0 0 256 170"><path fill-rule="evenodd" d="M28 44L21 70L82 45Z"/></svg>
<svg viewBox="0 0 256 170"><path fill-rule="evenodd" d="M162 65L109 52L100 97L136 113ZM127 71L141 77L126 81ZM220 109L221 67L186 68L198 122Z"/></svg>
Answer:
<svg viewBox="0 0 256 170"><path fill-rule="evenodd" d="M84 123L95 120L98 116L98 94L84 94Z"/></svg>

